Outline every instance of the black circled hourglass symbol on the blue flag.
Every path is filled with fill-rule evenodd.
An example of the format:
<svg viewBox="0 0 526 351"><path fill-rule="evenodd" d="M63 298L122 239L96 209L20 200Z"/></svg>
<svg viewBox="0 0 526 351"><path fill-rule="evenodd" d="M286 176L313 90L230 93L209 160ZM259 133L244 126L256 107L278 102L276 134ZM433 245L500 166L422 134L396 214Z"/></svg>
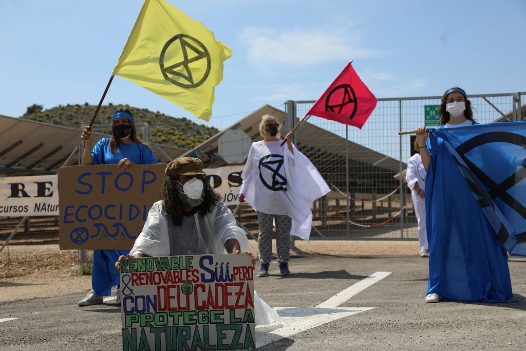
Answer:
<svg viewBox="0 0 526 351"><path fill-rule="evenodd" d="M467 142L459 145L456 150L459 153L460 157L466 162L468 167L473 171L474 174L477 175L477 177L481 180L481 182L489 189L488 195L494 200L496 198L500 198L502 202L513 208L515 212L517 212L522 218L526 219L526 207L524 207L524 204L522 204L519 200L515 199L513 196L511 196L508 193L508 190L511 189L515 184L520 183L522 179L526 178L526 165L522 165L522 167L517 167L518 170L510 175L509 177L502 180L502 182L497 183L495 180L493 180L491 177L489 177L487 174L485 174L479 167L477 167L473 162L470 161L470 159L466 156L468 152L470 152L472 149L489 143L508 143L508 144L514 144L519 147L522 147L524 150L524 153L522 154L522 157L524 157L524 154L526 153L526 137L510 133L510 132L489 132L484 134L479 134L477 136L472 137ZM519 159L521 155L515 155ZM481 207L485 206L491 206L491 202L489 199L487 199L487 196L485 196L484 192L481 191L481 189L477 189L476 186L473 184L470 184L471 190L476 193L480 199L479 204ZM501 232L504 230L502 228ZM497 233L499 236L502 235L502 233ZM519 243L526 243L526 232L517 233L515 234L515 238L517 238L517 241ZM501 236L501 241L504 241L504 237Z"/></svg>

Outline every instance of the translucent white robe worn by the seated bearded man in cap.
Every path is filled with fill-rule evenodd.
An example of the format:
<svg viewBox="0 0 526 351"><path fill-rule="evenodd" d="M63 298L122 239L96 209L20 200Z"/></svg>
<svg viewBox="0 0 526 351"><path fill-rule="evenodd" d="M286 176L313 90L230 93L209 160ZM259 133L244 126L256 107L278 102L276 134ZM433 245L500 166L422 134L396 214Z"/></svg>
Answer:
<svg viewBox="0 0 526 351"><path fill-rule="evenodd" d="M195 240L196 238L198 240ZM245 232L236 225L234 215L224 203L217 203L205 216L195 213L194 216L183 218L183 224L176 226L166 212L163 201L160 200L151 206L144 228L135 240L130 255L136 253L148 256L226 254L225 243L228 239L237 239L241 251L248 250ZM279 319L278 313L259 298L256 290L254 290L254 314L256 325L268 325Z"/></svg>

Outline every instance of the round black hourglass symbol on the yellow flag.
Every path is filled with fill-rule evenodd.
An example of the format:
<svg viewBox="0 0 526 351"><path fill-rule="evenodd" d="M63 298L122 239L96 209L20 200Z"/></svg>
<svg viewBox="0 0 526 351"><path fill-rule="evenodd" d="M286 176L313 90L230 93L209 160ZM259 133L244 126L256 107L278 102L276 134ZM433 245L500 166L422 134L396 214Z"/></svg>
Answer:
<svg viewBox="0 0 526 351"><path fill-rule="evenodd" d="M177 34L163 46L159 66L168 82L181 88L197 88L210 74L210 53L196 38Z"/></svg>

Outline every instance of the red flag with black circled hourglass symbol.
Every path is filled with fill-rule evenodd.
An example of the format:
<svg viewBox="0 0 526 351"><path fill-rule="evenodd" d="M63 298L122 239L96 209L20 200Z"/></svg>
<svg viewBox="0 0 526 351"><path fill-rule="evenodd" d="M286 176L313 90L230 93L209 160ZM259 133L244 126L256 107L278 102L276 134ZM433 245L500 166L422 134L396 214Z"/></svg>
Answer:
<svg viewBox="0 0 526 351"><path fill-rule="evenodd" d="M307 115L332 119L361 129L375 107L375 95L363 84L349 62Z"/></svg>

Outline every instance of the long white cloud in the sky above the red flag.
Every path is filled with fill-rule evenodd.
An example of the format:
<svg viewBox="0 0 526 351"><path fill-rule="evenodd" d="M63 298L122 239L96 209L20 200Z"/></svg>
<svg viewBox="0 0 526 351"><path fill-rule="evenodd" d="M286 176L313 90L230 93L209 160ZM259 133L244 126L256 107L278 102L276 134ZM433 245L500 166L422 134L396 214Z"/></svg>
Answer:
<svg viewBox="0 0 526 351"><path fill-rule="evenodd" d="M247 46L248 60L262 69L275 64L312 65L379 55L373 49L361 47L359 35L347 33L348 29L323 32L320 29L277 31L269 27L248 27L239 38Z"/></svg>

